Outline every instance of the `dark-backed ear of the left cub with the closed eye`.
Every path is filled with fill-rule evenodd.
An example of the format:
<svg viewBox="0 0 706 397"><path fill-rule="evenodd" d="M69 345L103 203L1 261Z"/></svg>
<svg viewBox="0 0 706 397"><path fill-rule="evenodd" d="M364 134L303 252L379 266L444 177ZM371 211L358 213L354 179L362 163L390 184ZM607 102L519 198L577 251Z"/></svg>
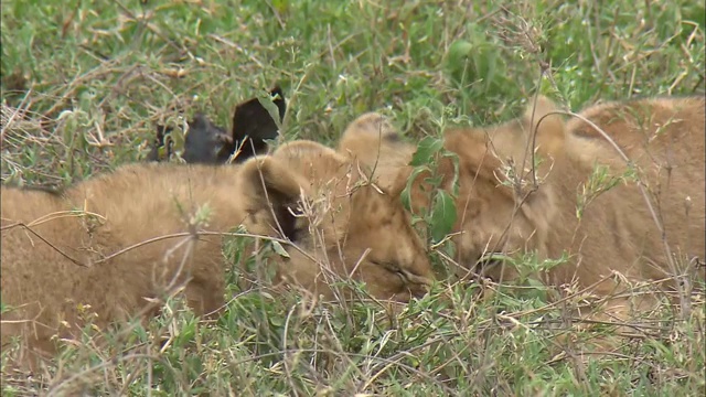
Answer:
<svg viewBox="0 0 706 397"><path fill-rule="evenodd" d="M266 214L269 219L274 215L279 227L270 226L296 240L299 227L295 210L301 195L308 193L309 181L288 165L272 155L250 158L240 169L239 189L252 213Z"/></svg>

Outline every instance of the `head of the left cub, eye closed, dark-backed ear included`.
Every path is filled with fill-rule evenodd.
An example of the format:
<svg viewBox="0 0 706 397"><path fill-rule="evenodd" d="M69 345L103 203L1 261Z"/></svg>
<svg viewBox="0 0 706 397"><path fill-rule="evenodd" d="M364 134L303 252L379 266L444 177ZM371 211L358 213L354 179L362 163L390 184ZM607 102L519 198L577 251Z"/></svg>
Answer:
<svg viewBox="0 0 706 397"><path fill-rule="evenodd" d="M330 283L350 277L372 296L398 301L422 296L432 282L399 189L376 186L334 150L295 141L246 162L240 181L252 208L246 226L275 229L295 245L279 259L279 281L331 298Z"/></svg>

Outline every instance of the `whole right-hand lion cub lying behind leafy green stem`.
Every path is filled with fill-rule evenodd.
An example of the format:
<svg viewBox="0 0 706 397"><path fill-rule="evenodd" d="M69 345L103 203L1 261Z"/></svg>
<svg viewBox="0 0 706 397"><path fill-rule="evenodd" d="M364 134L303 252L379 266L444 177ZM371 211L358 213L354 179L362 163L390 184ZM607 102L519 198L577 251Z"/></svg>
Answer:
<svg viewBox="0 0 706 397"><path fill-rule="evenodd" d="M656 282L699 268L703 278L705 105L704 97L610 103L565 122L539 97L516 120L446 131L445 148L459 158L459 264L502 280L516 271L492 254L566 256L564 265L538 276L599 296L622 289L613 272ZM370 124L377 128L361 128ZM339 147L376 164L381 184L392 185L409 178L406 164L415 151L396 135L382 116L367 114ZM451 189L453 172L451 160L439 160L443 187ZM429 204L426 176L413 184L417 208Z"/></svg>

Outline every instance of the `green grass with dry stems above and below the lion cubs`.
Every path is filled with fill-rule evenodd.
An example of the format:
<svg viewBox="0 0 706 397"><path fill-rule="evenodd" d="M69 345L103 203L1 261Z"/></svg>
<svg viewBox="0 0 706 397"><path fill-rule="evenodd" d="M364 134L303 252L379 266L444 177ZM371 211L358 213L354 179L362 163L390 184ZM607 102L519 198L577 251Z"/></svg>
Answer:
<svg viewBox="0 0 706 397"><path fill-rule="evenodd" d="M285 139L325 143L367 110L388 114L419 138L448 124L511 118L537 89L574 110L706 90L699 1L6 0L1 7L7 183L68 184L138 161L154 125L174 122L181 111L204 111L229 128L235 104L275 83L289 104ZM109 348L93 348L87 339L64 352L63 366L44 383L10 379L3 369L2 394L706 390L703 294L688 315L665 309L656 336L585 363L570 352L557 355L561 330L546 324L563 314L546 308L539 287L480 301L480 286L456 286L450 302L432 293L395 313L363 301L310 308L295 292L271 297L255 286L234 282L228 310L214 323L197 323L170 302L160 319Z"/></svg>

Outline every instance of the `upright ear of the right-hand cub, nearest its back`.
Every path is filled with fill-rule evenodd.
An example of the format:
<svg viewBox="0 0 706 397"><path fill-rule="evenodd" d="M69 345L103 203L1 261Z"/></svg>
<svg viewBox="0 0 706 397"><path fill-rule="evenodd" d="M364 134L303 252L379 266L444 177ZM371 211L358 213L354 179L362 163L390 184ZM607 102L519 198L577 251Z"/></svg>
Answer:
<svg viewBox="0 0 706 397"><path fill-rule="evenodd" d="M523 124L530 133L536 133L536 146L547 154L556 154L564 149L565 129L561 109L544 95L530 99ZM532 136L531 136L532 137Z"/></svg>

